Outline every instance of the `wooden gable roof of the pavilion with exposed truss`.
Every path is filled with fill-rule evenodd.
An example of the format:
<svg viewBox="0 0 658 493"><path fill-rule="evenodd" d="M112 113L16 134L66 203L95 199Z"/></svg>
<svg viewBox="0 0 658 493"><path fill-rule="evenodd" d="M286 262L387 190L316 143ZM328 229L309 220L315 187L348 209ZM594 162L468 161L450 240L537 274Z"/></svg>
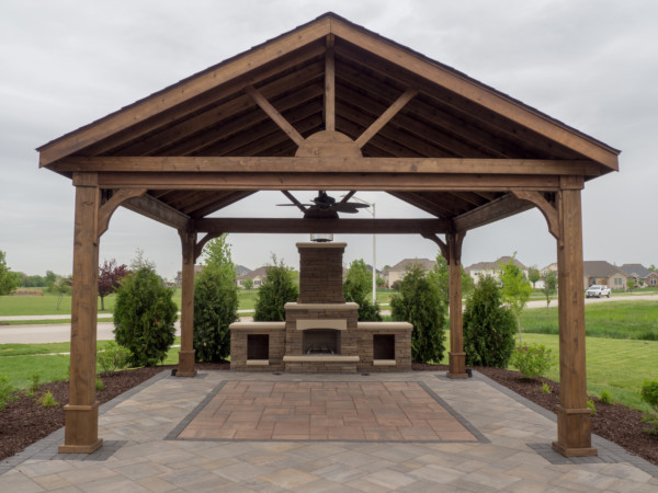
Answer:
<svg viewBox="0 0 658 493"><path fill-rule="evenodd" d="M302 152L322 133L359 165ZM551 191L619 168L616 149L331 12L37 150L42 167L98 172L102 188L144 186L122 205L164 209L179 229L259 190L320 187L385 191L450 220L492 205L468 229L532 207L508 194L510 174Z"/></svg>

